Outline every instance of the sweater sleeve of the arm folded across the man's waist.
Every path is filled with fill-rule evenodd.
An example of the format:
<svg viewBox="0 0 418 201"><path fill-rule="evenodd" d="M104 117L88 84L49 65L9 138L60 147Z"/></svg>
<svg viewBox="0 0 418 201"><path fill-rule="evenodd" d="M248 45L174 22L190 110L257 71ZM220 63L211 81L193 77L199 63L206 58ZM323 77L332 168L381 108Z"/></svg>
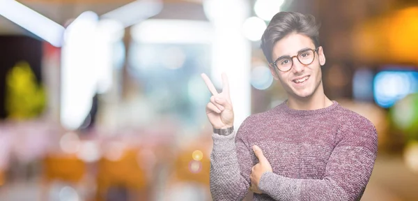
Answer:
<svg viewBox="0 0 418 201"><path fill-rule="evenodd" d="M258 187L274 200L360 200L376 160L378 135L370 121L341 128L323 179L293 179L271 172Z"/></svg>

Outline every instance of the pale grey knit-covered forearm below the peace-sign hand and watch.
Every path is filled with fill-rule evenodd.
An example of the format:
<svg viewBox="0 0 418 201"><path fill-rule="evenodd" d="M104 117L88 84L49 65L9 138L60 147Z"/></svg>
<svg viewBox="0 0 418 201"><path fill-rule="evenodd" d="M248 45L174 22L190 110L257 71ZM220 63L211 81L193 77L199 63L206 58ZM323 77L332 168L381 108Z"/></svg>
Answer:
<svg viewBox="0 0 418 201"><path fill-rule="evenodd" d="M235 149L235 131L231 135L213 134L210 155L210 193L213 200L242 200L249 184L240 174Z"/></svg>

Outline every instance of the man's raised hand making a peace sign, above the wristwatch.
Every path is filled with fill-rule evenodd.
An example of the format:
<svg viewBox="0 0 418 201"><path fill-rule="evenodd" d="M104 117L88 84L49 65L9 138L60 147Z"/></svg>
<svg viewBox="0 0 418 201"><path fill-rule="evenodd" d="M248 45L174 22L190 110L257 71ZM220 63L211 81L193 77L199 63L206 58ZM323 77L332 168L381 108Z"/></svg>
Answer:
<svg viewBox="0 0 418 201"><path fill-rule="evenodd" d="M229 83L228 77L225 73L222 73L222 92L217 93L215 86L213 86L208 75L205 73L201 74L203 80L206 82L206 86L212 96L210 102L206 105L206 114L210 124L213 128L229 128L233 126L233 109L231 97L229 96Z"/></svg>

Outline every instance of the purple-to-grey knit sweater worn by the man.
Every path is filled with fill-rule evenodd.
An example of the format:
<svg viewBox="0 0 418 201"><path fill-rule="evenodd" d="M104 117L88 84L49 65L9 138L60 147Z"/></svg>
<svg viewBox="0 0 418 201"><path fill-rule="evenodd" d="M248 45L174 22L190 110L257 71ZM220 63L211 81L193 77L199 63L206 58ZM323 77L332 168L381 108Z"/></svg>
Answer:
<svg viewBox="0 0 418 201"><path fill-rule="evenodd" d="M212 134L213 200L242 200L258 163L258 145L273 172L261 176L254 200L360 200L378 149L371 121L333 101L318 110L293 110L286 101L252 114L231 135Z"/></svg>

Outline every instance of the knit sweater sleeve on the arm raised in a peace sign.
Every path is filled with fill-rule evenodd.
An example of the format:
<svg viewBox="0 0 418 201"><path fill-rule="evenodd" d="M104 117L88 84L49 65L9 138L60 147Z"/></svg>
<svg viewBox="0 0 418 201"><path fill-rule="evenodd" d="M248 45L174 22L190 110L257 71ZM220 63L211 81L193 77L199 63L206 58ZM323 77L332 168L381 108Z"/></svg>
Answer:
<svg viewBox="0 0 418 201"><path fill-rule="evenodd" d="M212 134L210 155L210 193L213 200L243 200L249 189L249 174L254 165L247 147L243 125L235 136Z"/></svg>

